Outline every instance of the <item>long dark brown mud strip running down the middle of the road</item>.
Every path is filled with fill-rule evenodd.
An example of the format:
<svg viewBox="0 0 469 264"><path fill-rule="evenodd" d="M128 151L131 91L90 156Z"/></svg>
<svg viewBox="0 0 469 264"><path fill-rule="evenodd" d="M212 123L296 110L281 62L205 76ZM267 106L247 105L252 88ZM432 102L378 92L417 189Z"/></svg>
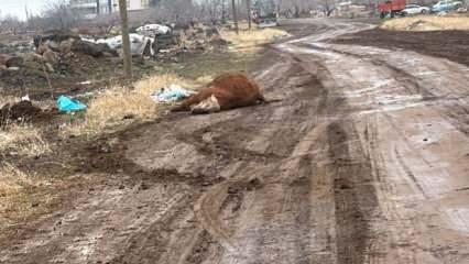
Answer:
<svg viewBox="0 0 469 264"><path fill-rule="evenodd" d="M335 116L327 124L326 134L330 170L334 172L330 177L334 178L331 188L335 200L337 263L364 263L367 249L373 237L368 222L377 217L374 210L378 208L374 186L370 184L373 180L371 160L367 158L362 147L358 147L353 156L350 153L350 145L360 140L348 118L348 109L351 107L345 96L335 91L339 87L332 81L331 73L317 59L308 59L307 56L299 58L294 54L291 56L327 87L327 94L316 114Z"/></svg>

